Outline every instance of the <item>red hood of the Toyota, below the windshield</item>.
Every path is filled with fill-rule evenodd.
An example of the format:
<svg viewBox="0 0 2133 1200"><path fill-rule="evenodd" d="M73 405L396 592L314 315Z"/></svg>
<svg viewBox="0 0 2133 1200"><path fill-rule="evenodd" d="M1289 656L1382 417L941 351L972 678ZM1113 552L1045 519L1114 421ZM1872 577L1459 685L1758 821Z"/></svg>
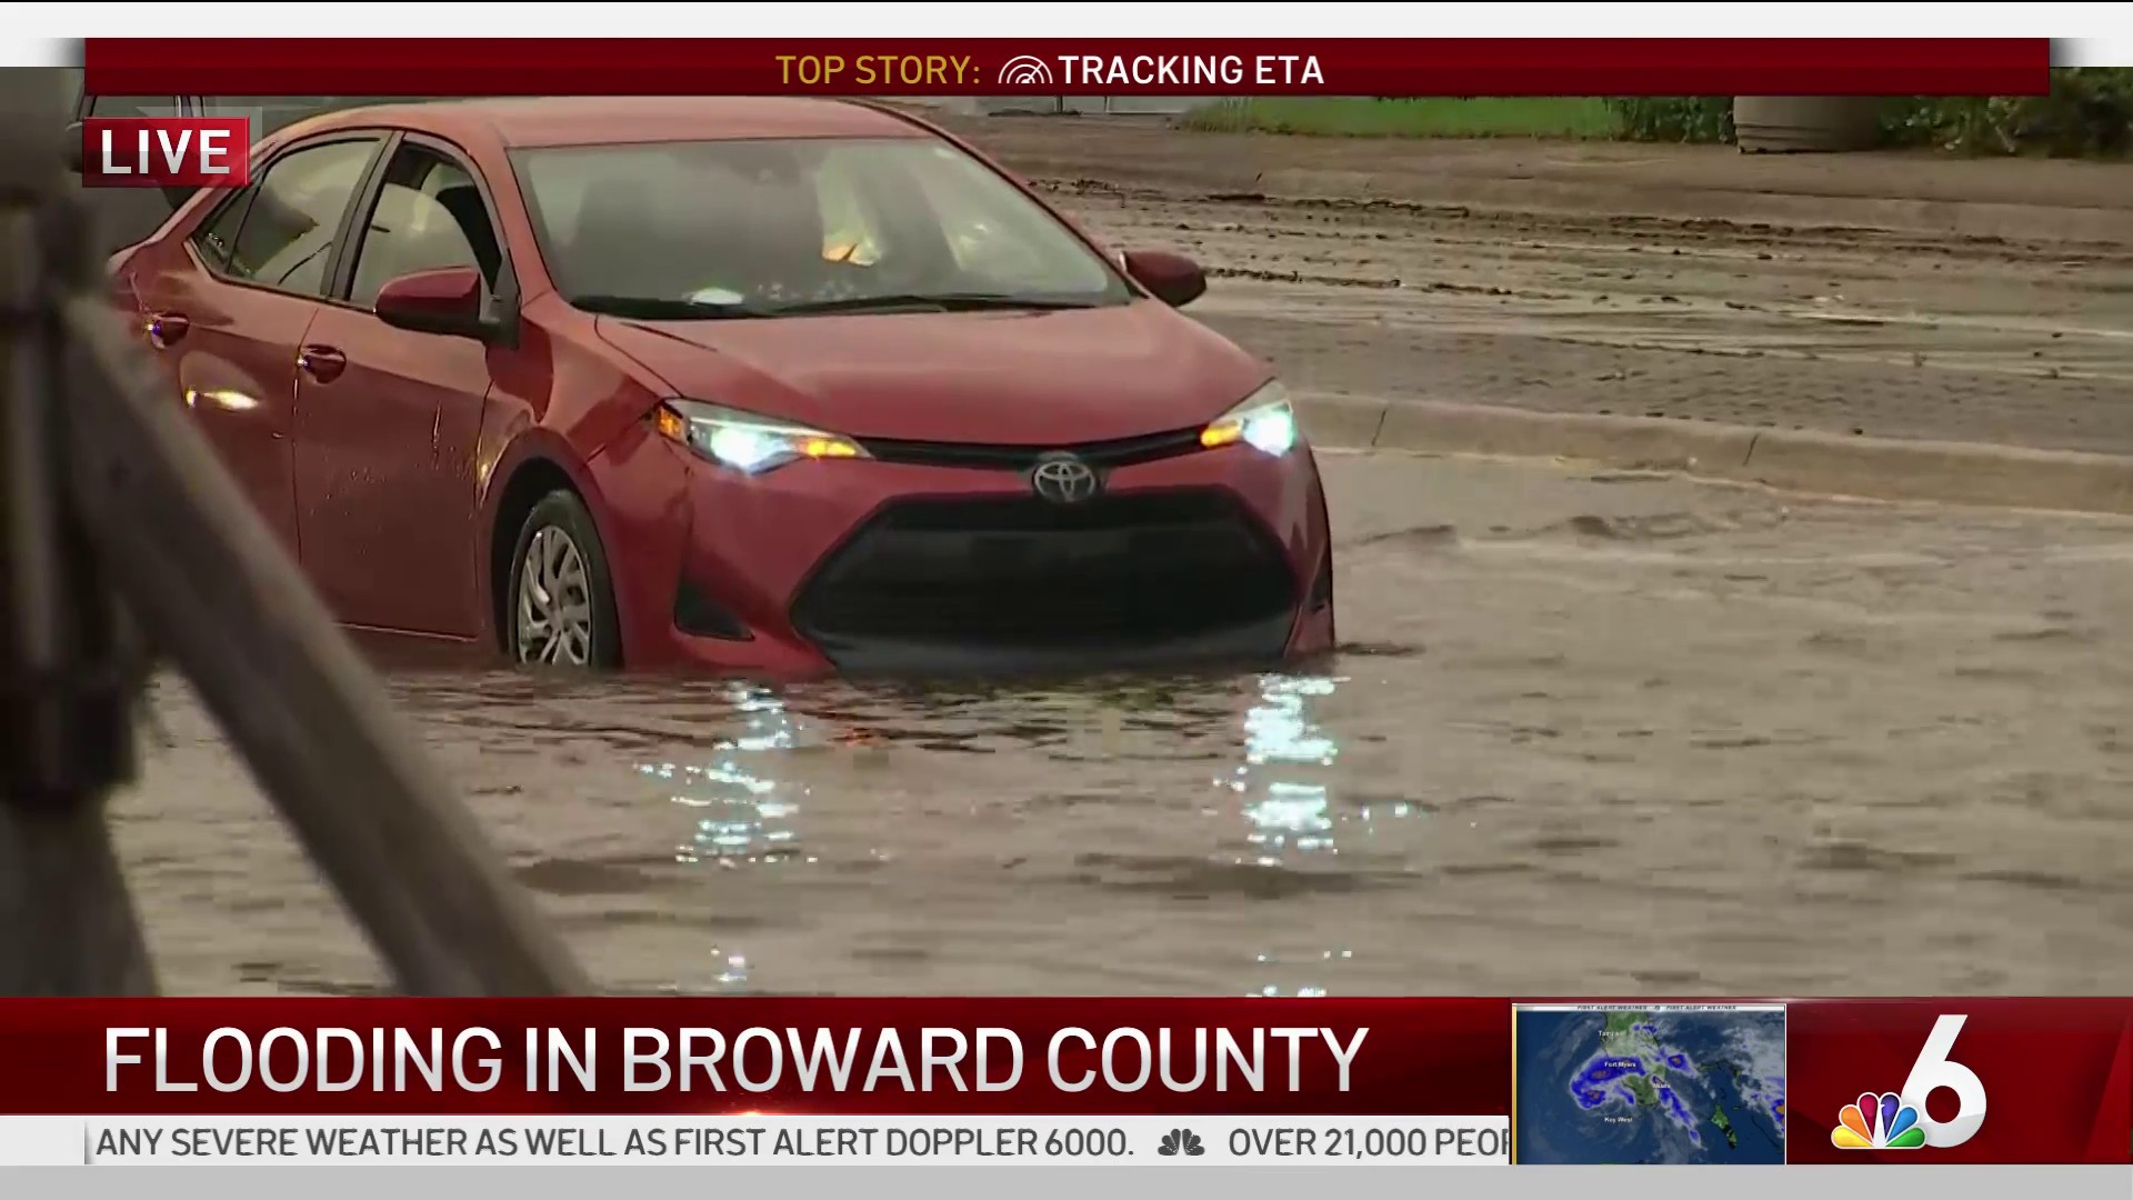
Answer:
<svg viewBox="0 0 2133 1200"><path fill-rule="evenodd" d="M838 314L599 335L674 393L853 438L1058 446L1188 429L1267 380L1175 310Z"/></svg>

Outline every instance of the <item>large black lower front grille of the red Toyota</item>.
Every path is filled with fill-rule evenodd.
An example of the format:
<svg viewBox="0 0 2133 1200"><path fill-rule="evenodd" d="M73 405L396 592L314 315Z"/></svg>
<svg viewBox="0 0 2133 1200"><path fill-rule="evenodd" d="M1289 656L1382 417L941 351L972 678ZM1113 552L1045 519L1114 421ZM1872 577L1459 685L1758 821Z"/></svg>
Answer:
<svg viewBox="0 0 2133 1200"><path fill-rule="evenodd" d="M851 666L883 645L1280 653L1282 547L1222 491L904 500L817 570L793 626Z"/></svg>

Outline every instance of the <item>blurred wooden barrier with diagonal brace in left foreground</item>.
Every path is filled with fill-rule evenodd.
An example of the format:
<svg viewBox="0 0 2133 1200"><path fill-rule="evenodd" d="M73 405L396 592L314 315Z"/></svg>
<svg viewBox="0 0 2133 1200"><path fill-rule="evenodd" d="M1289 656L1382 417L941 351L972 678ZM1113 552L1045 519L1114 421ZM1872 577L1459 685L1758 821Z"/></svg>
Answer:
<svg viewBox="0 0 2133 1200"><path fill-rule="evenodd" d="M0 73L0 995L156 991L102 814L149 651L403 991L589 991L102 299L62 105Z"/></svg>

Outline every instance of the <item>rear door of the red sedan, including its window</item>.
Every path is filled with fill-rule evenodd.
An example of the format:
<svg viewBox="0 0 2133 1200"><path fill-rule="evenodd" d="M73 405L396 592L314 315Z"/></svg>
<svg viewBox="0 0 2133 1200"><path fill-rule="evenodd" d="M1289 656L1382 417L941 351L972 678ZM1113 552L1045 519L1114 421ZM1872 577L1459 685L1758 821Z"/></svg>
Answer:
<svg viewBox="0 0 2133 1200"><path fill-rule="evenodd" d="M171 231L115 280L201 431L292 553L296 354L380 145L337 135L279 152L190 235Z"/></svg>

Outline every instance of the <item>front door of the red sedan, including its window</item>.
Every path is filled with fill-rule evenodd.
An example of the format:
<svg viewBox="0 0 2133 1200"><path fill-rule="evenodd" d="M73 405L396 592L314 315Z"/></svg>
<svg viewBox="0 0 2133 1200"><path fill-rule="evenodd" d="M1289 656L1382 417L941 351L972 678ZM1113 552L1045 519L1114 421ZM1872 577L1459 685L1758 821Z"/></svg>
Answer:
<svg viewBox="0 0 2133 1200"><path fill-rule="evenodd" d="M495 303L516 303L510 263L478 175L444 143L401 139L363 203L296 380L303 564L350 626L476 636L476 453L497 348L395 329L373 301L399 275L476 267Z"/></svg>

